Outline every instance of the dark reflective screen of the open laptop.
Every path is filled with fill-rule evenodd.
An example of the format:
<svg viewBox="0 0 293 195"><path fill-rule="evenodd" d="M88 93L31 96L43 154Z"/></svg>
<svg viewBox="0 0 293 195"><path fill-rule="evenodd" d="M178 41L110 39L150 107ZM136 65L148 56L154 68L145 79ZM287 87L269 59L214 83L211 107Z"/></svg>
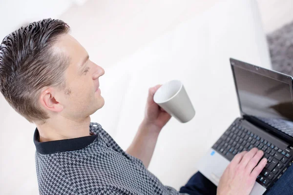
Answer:
<svg viewBox="0 0 293 195"><path fill-rule="evenodd" d="M238 66L233 66L233 70L242 114L256 117L293 137L290 85Z"/></svg>

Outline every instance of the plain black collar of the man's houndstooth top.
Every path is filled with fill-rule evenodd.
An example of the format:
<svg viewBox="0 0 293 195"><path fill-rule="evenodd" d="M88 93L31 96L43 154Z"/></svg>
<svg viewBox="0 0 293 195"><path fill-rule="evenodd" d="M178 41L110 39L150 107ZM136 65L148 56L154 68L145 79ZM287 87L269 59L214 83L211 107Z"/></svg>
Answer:
<svg viewBox="0 0 293 195"><path fill-rule="evenodd" d="M82 149L89 144L91 144L98 135L85 136L85 137L77 137L72 139L62 139L56 141L46 141L40 142L40 135L38 128L35 130L34 134L34 143L36 145L36 149L39 153L43 155L72 151Z"/></svg>

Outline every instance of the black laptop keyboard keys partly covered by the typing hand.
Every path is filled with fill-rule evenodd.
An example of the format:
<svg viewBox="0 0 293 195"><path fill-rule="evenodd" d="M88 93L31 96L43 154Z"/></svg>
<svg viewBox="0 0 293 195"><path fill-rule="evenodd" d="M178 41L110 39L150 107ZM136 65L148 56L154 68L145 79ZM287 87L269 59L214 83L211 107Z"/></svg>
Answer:
<svg viewBox="0 0 293 195"><path fill-rule="evenodd" d="M275 178L278 179L286 171L287 168L284 169L284 167L291 159L289 149L278 148L237 122L230 126L212 148L231 161L236 154L250 151L254 147L262 150L263 157L268 159L266 167L256 179L258 183L267 188Z"/></svg>

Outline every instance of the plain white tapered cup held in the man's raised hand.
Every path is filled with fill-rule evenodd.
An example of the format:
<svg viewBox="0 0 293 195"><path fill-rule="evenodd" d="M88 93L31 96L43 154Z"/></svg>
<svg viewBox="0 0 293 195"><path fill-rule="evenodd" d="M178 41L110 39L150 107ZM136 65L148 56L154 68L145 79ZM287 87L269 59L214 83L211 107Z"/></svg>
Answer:
<svg viewBox="0 0 293 195"><path fill-rule="evenodd" d="M180 80L170 80L163 84L154 95L154 102L180 122L188 122L195 110Z"/></svg>

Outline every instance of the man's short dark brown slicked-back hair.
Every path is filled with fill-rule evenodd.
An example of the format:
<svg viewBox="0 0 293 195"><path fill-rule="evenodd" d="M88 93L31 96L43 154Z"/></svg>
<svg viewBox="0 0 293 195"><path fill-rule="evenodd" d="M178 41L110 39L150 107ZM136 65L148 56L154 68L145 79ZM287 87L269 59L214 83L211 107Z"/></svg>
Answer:
<svg viewBox="0 0 293 195"><path fill-rule="evenodd" d="M10 33L0 44L0 91L29 122L49 118L38 103L43 87L66 86L64 71L69 57L52 46L69 31L62 20L44 19Z"/></svg>

